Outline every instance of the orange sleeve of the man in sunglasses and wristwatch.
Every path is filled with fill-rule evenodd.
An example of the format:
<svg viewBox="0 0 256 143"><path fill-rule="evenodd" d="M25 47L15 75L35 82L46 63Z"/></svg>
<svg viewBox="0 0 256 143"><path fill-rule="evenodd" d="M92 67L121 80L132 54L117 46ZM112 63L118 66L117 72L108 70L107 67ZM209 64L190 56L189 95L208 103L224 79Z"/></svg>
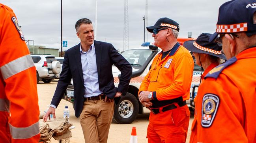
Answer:
<svg viewBox="0 0 256 143"><path fill-rule="evenodd" d="M157 100L170 100L180 96L183 96L183 100L189 99L194 68L192 56L186 53L179 56L177 60L174 61L173 84L164 89L158 89L155 92ZM155 93L153 92L153 94Z"/></svg>

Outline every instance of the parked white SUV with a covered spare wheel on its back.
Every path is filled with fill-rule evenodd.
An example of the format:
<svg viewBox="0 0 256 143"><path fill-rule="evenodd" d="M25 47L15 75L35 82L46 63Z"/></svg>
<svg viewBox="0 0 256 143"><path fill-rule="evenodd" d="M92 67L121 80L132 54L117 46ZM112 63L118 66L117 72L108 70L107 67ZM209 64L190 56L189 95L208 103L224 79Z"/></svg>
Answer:
<svg viewBox="0 0 256 143"><path fill-rule="evenodd" d="M60 73L60 62L55 59L54 55L35 54L31 57L36 66L37 83L39 81L50 83L56 74Z"/></svg>

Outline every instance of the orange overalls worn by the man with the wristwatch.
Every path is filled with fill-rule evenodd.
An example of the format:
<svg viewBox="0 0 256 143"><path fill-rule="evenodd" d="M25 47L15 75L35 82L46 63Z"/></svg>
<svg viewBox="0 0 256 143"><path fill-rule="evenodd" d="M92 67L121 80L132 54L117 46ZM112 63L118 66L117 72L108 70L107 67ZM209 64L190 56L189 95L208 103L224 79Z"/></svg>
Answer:
<svg viewBox="0 0 256 143"><path fill-rule="evenodd" d="M162 52L153 60L152 67L140 85L141 91L152 91L151 110L147 138L149 143L185 143L189 126L188 106L179 106L189 99L194 62L187 49L177 43L170 53L161 60ZM184 103L184 102L183 102ZM176 108L164 111L164 107Z"/></svg>

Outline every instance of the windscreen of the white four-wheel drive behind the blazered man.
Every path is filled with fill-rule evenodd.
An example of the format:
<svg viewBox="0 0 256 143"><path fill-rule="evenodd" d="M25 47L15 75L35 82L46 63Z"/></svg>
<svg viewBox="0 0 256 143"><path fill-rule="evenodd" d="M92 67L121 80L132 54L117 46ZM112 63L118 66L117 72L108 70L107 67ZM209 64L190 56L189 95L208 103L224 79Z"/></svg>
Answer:
<svg viewBox="0 0 256 143"><path fill-rule="evenodd" d="M141 66L151 54L149 49L131 49L124 51L121 55L131 64Z"/></svg>

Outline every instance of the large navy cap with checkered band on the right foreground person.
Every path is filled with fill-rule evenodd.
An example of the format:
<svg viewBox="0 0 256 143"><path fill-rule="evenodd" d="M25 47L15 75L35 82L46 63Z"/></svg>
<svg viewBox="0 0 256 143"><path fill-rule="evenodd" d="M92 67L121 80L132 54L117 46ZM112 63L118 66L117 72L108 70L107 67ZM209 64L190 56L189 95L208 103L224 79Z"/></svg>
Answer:
<svg viewBox="0 0 256 143"><path fill-rule="evenodd" d="M256 12L256 0L232 0L222 4L216 32L209 41L213 41L220 33L245 32L247 36L256 34L253 14Z"/></svg>

